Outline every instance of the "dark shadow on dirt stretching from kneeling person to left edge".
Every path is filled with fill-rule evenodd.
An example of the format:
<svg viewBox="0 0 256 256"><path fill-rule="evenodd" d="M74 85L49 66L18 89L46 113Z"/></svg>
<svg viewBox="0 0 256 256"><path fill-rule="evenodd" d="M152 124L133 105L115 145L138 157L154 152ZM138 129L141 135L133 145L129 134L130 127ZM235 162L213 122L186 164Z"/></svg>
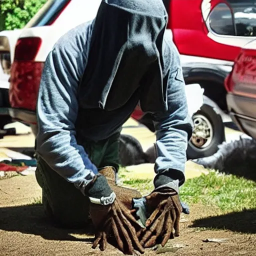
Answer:
<svg viewBox="0 0 256 256"><path fill-rule="evenodd" d="M42 205L0 208L0 229L40 235L44 239L92 242L92 238L76 238L72 234L92 234L92 224L85 229L63 229L51 225L43 214Z"/></svg>

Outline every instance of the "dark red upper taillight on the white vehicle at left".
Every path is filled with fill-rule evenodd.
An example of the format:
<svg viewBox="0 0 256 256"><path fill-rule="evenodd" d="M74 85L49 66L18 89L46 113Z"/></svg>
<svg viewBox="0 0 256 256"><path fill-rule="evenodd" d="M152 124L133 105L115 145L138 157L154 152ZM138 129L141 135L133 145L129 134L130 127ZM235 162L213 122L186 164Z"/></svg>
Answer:
<svg viewBox="0 0 256 256"><path fill-rule="evenodd" d="M41 46L41 42L40 37L19 38L15 46L14 60L34 60Z"/></svg>

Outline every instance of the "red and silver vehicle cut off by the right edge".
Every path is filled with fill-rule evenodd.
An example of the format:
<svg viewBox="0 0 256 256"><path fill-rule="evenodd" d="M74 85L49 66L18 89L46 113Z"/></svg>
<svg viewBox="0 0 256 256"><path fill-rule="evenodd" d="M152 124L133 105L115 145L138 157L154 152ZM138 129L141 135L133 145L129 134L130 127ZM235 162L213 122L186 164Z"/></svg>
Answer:
<svg viewBox="0 0 256 256"><path fill-rule="evenodd" d="M256 40L241 49L225 87L232 120L241 131L256 138Z"/></svg>

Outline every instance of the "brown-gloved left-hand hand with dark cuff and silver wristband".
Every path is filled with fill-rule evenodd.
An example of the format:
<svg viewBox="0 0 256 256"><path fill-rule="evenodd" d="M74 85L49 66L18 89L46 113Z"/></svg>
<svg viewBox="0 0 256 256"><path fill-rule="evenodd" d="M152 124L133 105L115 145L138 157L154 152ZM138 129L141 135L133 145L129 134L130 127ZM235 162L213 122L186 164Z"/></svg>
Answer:
<svg viewBox="0 0 256 256"><path fill-rule="evenodd" d="M123 253L133 254L134 249L143 253L135 230L139 225L130 210L115 198L107 179L103 175L96 176L86 187L85 194L90 199L89 212L96 228L92 248L99 244L100 250L104 250L108 241Z"/></svg>

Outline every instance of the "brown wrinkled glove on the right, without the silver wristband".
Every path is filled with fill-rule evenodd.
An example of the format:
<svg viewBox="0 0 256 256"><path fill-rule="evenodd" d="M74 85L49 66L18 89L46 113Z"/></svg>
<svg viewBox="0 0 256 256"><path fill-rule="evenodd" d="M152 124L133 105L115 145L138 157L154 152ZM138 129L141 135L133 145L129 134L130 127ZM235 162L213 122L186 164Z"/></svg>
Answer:
<svg viewBox="0 0 256 256"><path fill-rule="evenodd" d="M166 244L169 238L179 235L179 220L182 207L178 194L173 189L159 189L146 197L147 212L145 228L139 231L140 243L144 248L152 247L156 243Z"/></svg>

